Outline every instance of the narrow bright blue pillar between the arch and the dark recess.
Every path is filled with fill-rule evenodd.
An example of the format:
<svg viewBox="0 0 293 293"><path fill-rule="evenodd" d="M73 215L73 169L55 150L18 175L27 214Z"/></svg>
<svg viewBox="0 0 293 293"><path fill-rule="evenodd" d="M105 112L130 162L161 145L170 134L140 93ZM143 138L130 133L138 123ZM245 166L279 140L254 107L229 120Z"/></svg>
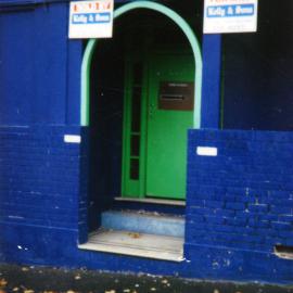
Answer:
<svg viewBox="0 0 293 293"><path fill-rule="evenodd" d="M203 36L202 128L220 125L221 35Z"/></svg>

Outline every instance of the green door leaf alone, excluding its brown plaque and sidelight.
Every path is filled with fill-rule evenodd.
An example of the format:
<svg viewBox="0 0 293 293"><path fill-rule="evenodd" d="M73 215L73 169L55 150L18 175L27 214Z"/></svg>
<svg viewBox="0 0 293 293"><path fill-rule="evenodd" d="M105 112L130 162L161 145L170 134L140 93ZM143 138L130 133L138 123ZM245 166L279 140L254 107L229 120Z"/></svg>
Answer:
<svg viewBox="0 0 293 293"><path fill-rule="evenodd" d="M158 54L151 61L149 78L145 195L186 198L187 130L193 111L160 109L162 82L192 82L194 61L190 55ZM171 97L170 97L171 98Z"/></svg>

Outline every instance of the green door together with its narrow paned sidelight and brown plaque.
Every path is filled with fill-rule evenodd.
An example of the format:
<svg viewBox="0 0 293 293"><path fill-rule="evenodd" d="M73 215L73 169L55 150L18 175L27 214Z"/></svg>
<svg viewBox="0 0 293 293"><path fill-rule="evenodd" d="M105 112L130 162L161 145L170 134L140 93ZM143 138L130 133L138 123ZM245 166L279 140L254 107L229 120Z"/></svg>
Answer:
<svg viewBox="0 0 293 293"><path fill-rule="evenodd" d="M156 53L140 66L128 64L123 196L184 200L194 61L188 54Z"/></svg>

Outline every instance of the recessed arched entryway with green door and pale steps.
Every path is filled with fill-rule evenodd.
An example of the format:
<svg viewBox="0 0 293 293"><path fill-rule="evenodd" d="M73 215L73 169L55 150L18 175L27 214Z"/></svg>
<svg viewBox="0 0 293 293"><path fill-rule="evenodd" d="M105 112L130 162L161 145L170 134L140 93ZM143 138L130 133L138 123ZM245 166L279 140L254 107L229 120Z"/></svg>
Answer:
<svg viewBox="0 0 293 293"><path fill-rule="evenodd" d="M91 114L90 233L79 247L181 262L187 132L198 125L194 68L201 71L201 56L181 16L153 2L126 7L140 3L144 10L131 12L114 39L95 50L97 41L86 46L81 104L89 105L90 95L90 106L81 122L87 125Z"/></svg>

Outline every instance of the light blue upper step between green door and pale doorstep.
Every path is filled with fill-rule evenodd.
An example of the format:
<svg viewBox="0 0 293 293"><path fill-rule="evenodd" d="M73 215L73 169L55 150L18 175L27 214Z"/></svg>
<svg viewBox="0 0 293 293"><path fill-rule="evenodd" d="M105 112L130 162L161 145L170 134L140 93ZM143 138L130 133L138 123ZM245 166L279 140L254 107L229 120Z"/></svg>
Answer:
<svg viewBox="0 0 293 293"><path fill-rule="evenodd" d="M183 217L157 213L107 211L102 213L101 227L148 234L184 237Z"/></svg>

